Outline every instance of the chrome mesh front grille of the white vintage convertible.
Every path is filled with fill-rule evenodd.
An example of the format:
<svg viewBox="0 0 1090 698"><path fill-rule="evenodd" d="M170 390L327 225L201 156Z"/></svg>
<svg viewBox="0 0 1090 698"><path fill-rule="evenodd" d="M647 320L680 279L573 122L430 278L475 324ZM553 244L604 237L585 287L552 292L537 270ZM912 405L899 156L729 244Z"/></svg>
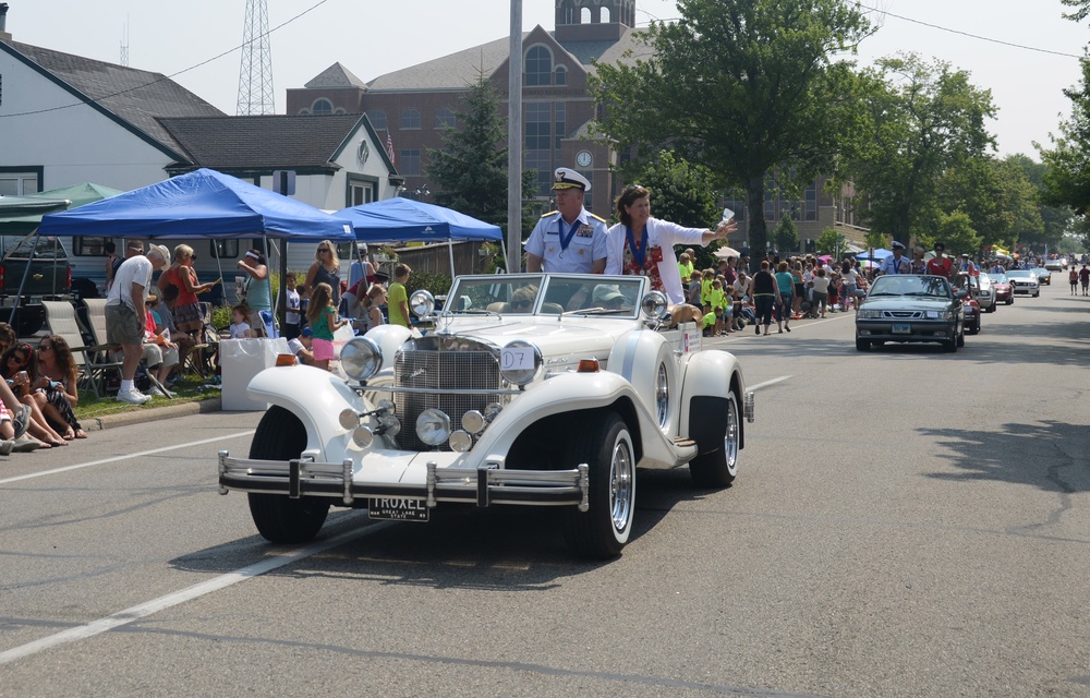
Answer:
<svg viewBox="0 0 1090 698"><path fill-rule="evenodd" d="M425 389L396 396L397 416L401 420L398 442L405 450L432 450L416 437L416 418L427 409L443 410L451 429L461 428L462 414L469 410L485 411L489 402L498 402L498 394L461 395L459 389L499 389L499 361L486 348L416 348L401 351L393 364L393 381L398 387ZM450 450L444 444L444 450Z"/></svg>

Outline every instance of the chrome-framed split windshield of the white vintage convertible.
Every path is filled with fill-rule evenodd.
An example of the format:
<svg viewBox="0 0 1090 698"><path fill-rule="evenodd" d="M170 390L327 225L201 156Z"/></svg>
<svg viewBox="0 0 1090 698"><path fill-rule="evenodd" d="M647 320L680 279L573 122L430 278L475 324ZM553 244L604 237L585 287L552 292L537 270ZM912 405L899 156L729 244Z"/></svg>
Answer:
<svg viewBox="0 0 1090 698"><path fill-rule="evenodd" d="M451 315L607 315L635 317L641 276L505 274L462 276L444 312Z"/></svg>

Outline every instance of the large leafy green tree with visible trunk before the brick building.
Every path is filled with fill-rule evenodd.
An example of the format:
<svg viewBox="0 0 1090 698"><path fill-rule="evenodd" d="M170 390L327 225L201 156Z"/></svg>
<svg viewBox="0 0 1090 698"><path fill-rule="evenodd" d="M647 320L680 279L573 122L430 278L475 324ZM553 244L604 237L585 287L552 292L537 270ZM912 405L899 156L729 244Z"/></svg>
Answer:
<svg viewBox="0 0 1090 698"><path fill-rule="evenodd" d="M597 67L597 130L638 154L673 147L719 188L744 190L750 245L763 256L766 174L812 180L858 144L855 73L831 57L869 23L846 0L680 0L678 10L644 34L647 58Z"/></svg>

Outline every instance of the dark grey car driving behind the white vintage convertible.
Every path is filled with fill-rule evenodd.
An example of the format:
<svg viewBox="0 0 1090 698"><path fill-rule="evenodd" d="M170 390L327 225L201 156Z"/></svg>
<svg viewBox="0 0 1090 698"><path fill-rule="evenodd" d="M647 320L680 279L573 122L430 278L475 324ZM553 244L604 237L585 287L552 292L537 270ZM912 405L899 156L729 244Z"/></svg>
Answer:
<svg viewBox="0 0 1090 698"><path fill-rule="evenodd" d="M966 296L941 276L881 276L856 312L856 349L892 341L938 342L957 351L965 346Z"/></svg>

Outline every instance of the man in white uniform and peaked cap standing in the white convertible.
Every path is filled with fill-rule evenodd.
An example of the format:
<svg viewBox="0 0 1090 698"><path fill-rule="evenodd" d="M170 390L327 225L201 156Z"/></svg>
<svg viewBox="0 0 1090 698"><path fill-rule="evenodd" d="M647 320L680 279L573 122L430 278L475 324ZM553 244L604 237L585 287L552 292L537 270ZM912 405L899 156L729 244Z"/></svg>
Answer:
<svg viewBox="0 0 1090 698"><path fill-rule="evenodd" d="M606 268L606 221L583 208L591 190L567 167L553 179L557 210L547 213L526 239L526 272L602 274Z"/></svg>

